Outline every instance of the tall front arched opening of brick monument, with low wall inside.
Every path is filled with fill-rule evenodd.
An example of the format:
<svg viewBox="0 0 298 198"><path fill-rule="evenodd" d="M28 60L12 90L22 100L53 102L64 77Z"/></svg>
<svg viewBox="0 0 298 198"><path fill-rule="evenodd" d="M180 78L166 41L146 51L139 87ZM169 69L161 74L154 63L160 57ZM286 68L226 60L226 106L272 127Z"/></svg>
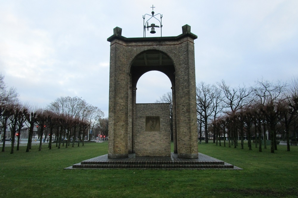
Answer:
<svg viewBox="0 0 298 198"><path fill-rule="evenodd" d="M128 142L131 140L131 152L136 156L170 156L173 132L173 108L170 107L176 104L155 102L167 92L170 92L173 101L172 98L176 98L175 84L175 67L167 54L159 50L146 50L132 61L131 114L128 115L128 119L131 115L132 130Z"/></svg>

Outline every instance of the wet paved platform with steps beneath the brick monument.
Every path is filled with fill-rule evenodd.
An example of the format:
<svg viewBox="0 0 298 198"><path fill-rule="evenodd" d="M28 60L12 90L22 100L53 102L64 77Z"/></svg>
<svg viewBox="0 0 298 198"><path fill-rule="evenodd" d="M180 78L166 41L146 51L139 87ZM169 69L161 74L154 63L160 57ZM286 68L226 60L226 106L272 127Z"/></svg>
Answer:
<svg viewBox="0 0 298 198"><path fill-rule="evenodd" d="M198 159L178 158L176 153L171 157L136 157L109 159L108 154L81 161L65 169L164 169L164 170L204 170L229 169L242 170L232 164L198 153Z"/></svg>

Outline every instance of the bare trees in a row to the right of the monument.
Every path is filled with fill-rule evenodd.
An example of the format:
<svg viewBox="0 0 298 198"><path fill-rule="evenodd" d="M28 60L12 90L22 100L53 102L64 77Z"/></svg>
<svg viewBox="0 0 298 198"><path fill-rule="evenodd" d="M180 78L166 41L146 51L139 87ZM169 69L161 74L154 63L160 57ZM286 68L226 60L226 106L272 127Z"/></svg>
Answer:
<svg viewBox="0 0 298 198"><path fill-rule="evenodd" d="M205 142L208 143L209 128L212 129L214 143L224 136L225 145L227 135L229 146L232 144L236 147L236 138L240 134L243 148L244 134L247 134L248 146L251 149L251 137L259 136L259 151L262 151L261 137L263 132L268 130L272 153L277 149L277 133L285 135L287 150L290 151L289 137L296 138L297 133L297 105L298 78L288 84L262 79L248 88L245 85L232 88L224 80L215 85L201 82L197 85L200 138L204 127ZM266 148L266 135L263 137Z"/></svg>

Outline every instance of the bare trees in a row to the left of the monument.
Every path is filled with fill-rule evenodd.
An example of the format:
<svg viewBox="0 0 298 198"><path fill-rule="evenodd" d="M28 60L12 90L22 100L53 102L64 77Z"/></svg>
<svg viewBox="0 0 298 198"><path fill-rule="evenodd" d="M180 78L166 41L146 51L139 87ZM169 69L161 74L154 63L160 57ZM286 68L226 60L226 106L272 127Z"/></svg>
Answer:
<svg viewBox="0 0 298 198"><path fill-rule="evenodd" d="M52 148L52 138L55 136L56 147L60 148L66 143L66 148L75 140L84 145L85 136L95 129L108 136L108 119L103 118L104 113L98 108L88 104L79 97L60 97L51 102L46 108L38 108L28 104L22 104L18 100L18 94L14 88L7 88L4 76L0 74L0 134L3 136L2 152L5 149L7 132L10 131L11 151L14 151L15 141L19 150L21 129L29 128L28 144L26 152L32 145L34 129L37 128L40 139L39 151L41 151L42 137L49 138L49 149ZM35 128L36 127L36 128ZM8 130L10 129L10 130ZM15 136L17 134L17 137ZM89 136L89 138L91 135ZM67 140L65 142L65 140Z"/></svg>

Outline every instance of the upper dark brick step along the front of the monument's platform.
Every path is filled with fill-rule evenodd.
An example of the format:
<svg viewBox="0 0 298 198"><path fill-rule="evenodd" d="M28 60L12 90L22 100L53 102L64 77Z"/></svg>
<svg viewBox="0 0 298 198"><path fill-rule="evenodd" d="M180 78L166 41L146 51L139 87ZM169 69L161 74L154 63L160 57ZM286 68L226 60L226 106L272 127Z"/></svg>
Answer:
<svg viewBox="0 0 298 198"><path fill-rule="evenodd" d="M213 165L213 164L224 164L224 161L82 161L81 164L135 164L135 165L168 165L168 164L174 164L174 165L192 165L192 164L198 164L198 165Z"/></svg>

